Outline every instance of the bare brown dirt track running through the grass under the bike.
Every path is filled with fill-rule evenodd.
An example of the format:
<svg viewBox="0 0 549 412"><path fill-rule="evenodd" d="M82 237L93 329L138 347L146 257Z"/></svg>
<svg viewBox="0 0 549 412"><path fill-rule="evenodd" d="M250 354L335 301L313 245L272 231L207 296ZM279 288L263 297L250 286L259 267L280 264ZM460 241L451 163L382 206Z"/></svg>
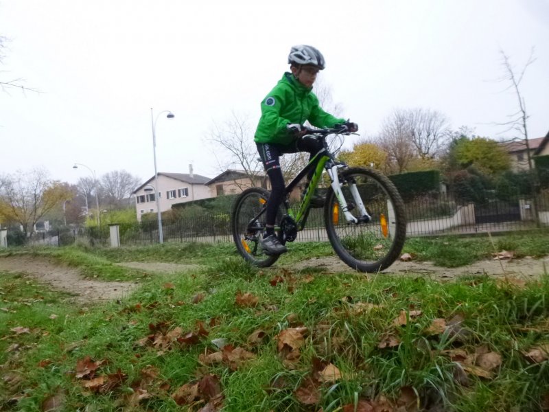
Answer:
<svg viewBox="0 0 549 412"><path fill-rule="evenodd" d="M124 262L120 266L137 268L148 272L176 273L198 269L198 265L175 264L162 262ZM283 266L283 265L277 265ZM349 266L335 256L314 258L288 266L292 271L306 268L320 268L325 273L350 271ZM384 273L390 275L425 275L442 282L455 279L460 275L492 275L495 277L519 277L522 279L537 279L549 268L549 257L544 259L525 258L519 260L482 260L460 268L441 268L429 262L395 262ZM81 304L94 301L119 299L130 293L137 282L100 282L86 279L78 269L60 266L53 260L33 256L9 256L0 258L0 271L25 273L39 282L43 282L56 290L62 290L74 295L74 300Z"/></svg>

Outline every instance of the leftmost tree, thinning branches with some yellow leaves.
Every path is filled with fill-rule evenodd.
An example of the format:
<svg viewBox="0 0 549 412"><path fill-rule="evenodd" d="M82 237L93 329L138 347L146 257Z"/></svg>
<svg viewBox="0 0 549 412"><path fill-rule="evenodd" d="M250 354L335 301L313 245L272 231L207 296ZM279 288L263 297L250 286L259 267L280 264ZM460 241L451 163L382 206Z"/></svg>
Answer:
<svg viewBox="0 0 549 412"><path fill-rule="evenodd" d="M0 216L23 227L25 238L32 235L34 225L60 202L71 198L71 192L51 181L43 169L18 171L3 176L0 192Z"/></svg>

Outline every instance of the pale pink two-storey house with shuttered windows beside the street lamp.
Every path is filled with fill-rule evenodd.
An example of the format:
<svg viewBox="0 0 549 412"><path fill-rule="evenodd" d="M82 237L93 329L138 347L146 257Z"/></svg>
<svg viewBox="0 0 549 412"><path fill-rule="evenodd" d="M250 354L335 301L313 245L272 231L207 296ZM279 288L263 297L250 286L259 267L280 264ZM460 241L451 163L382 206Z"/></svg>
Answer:
<svg viewBox="0 0 549 412"><path fill-rule="evenodd" d="M159 195L160 211L172 209L174 203L197 201L211 197L210 188L205 185L211 179L200 174L189 173L158 173L158 190L155 190L155 179L152 176L148 181L132 192L135 195L135 211L137 220L145 213L156 213L156 197Z"/></svg>

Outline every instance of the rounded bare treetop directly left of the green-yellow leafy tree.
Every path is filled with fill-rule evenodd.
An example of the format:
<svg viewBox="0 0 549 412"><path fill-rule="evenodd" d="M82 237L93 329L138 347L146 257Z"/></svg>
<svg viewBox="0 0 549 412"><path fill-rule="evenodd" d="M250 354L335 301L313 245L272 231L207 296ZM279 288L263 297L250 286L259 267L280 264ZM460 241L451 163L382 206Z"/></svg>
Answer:
<svg viewBox="0 0 549 412"><path fill-rule="evenodd" d="M439 155L449 137L447 117L439 111L425 108L413 108L406 113L410 138L418 155L422 159L432 159Z"/></svg>

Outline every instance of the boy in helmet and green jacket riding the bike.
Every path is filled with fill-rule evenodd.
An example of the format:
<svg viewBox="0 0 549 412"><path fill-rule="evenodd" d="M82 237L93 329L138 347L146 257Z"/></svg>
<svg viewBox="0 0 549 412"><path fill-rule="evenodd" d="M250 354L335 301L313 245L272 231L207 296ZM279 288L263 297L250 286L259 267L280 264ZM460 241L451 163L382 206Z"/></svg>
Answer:
<svg viewBox="0 0 549 412"><path fill-rule="evenodd" d="M324 57L317 49L307 45L294 46L290 50L288 63L291 73L284 73L261 102L261 118L254 139L271 184L266 209L266 233L261 247L277 255L287 251L274 234L277 210L285 191L279 157L284 153L309 152L312 158L323 149L320 141L305 134L307 130L302 125L307 121L318 128L343 126L351 133L358 130L355 123L323 111L318 98L312 93L318 71L325 68Z"/></svg>

